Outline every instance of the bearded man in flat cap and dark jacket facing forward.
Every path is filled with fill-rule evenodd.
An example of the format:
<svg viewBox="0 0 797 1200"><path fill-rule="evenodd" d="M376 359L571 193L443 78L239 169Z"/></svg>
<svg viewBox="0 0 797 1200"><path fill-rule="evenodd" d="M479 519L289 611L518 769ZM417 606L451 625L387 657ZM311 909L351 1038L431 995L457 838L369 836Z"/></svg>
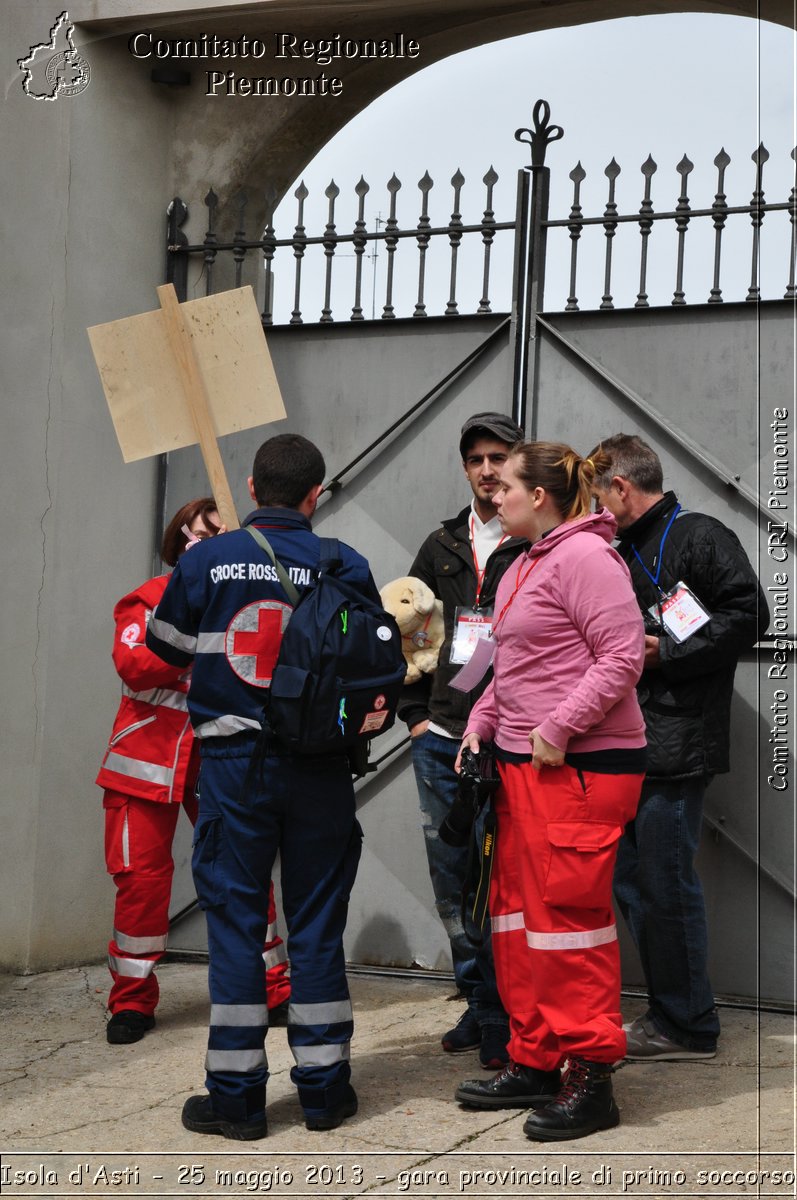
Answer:
<svg viewBox="0 0 797 1200"><path fill-rule="evenodd" d="M462 426L460 454L471 485L471 504L429 535L409 575L426 583L443 601L445 641L435 672L405 689L398 715L412 734L429 870L437 912L451 943L454 977L468 1007L457 1025L443 1036L450 1052L479 1050L483 1067L507 1062L509 1026L498 997L490 940L475 949L461 919L462 888L468 850L447 845L438 829L457 796L454 762L471 708L490 676L471 692L449 686L468 661L475 638L491 626L498 580L526 547L519 538L502 535L492 497L510 446L523 431L503 413L477 413Z"/></svg>

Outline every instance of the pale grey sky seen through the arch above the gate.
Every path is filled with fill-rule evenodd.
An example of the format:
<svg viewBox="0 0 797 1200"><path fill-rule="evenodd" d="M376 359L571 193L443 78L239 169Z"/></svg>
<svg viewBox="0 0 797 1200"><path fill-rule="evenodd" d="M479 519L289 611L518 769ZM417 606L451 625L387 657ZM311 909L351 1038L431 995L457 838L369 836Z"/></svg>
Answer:
<svg viewBox="0 0 797 1200"><path fill-rule="evenodd" d="M421 47L423 48L423 47ZM514 216L516 172L529 161L528 148L514 139L519 127L532 124L538 98L547 100L551 120L565 136L549 148L552 170L551 216L567 216L573 185L569 172L580 161L587 172L582 185L585 216L598 216L606 203L604 168L612 156L622 168L617 181L621 212L639 209L643 194L640 173L648 154L658 163L653 179L657 210L675 209L681 178L675 167L684 154L695 164L688 194L693 208L708 208L717 191L715 155L731 156L725 178L727 203L749 202L755 168L751 152L763 140L771 158L765 167L768 202L787 200L797 142L795 128L795 36L783 26L741 17L672 14L601 22L509 38L435 64L397 84L341 131L302 173L311 197L305 209L308 234L326 221L323 191L331 178L341 187L338 233L350 232L355 217L353 188L364 174L371 184L366 204L368 228L388 212L384 185L395 172L402 181L398 221L417 223L420 196L417 182L426 169L435 179L431 215L445 224L451 211L449 180L459 168L466 176L462 215L477 222L484 209L481 178L490 166L499 174L493 208L498 220ZM299 181L296 180L296 184ZM295 187L295 185L294 185ZM295 223L293 187L277 210L278 236ZM552 235L546 306L564 307L568 294L569 239ZM472 239L462 254L461 308L474 311L480 294L480 242ZM580 256L585 275L579 294L582 307L594 307L603 292L603 233L585 234ZM478 242L478 245L477 245ZM615 302L633 304L639 282L639 228L630 224L615 239ZM412 242L411 245L414 245ZM502 250L503 245L503 250ZM687 299L702 302L711 288L713 227L695 220L687 242ZM779 296L786 286L789 217L771 214L762 229L762 295ZM396 254L397 316L409 316L417 286L417 256ZM401 247L400 247L401 251ZM496 241L496 310L508 307L509 238ZM442 311L448 288L444 246L430 254L430 312ZM669 304L675 286L675 232L658 227L649 242L651 302ZM785 265L784 265L785 260ZM288 264L283 266L283 271ZM341 262L341 274L344 264ZM368 263L366 316L371 283L377 272L376 312L383 287L384 253ZM402 274L402 269L405 269ZM311 302L312 259L307 260L306 319L317 319ZM750 276L750 223L730 218L725 234L723 288L726 299L743 299ZM288 288L289 290L289 288ZM344 289L343 289L344 290ZM341 301L343 296L338 290ZM432 304L433 301L433 304ZM288 301L288 307L289 307ZM343 307L340 317L346 318ZM338 313L336 312L336 316Z"/></svg>

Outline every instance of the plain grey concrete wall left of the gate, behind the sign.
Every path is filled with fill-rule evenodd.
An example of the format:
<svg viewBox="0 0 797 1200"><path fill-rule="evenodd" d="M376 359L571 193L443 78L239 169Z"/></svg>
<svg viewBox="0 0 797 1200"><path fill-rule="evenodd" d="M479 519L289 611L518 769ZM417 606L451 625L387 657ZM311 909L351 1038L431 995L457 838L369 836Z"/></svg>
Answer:
<svg viewBox="0 0 797 1200"><path fill-rule="evenodd" d="M61 11L0 12L0 964L16 971L96 958L107 938L94 774L119 695L110 612L149 574L154 520L154 466L122 469L85 330L154 306L168 110L114 42L92 47L80 96L25 96L16 59Z"/></svg>

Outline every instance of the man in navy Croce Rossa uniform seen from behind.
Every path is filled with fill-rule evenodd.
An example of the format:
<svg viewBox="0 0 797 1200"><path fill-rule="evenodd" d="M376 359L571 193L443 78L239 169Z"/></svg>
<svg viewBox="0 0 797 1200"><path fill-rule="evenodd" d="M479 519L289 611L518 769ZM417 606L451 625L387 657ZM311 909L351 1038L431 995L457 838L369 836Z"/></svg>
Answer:
<svg viewBox="0 0 797 1200"><path fill-rule="evenodd" d="M292 608L274 565L247 532L252 526L268 538L296 587L312 583L319 539L310 518L324 474L324 460L306 438L288 433L264 442L248 480L258 508L241 529L184 556L146 631L146 644L167 662L193 665L188 712L200 751L193 875L208 919L209 1094L186 1100L182 1123L239 1140L266 1134L260 955L277 851L290 947L290 1076L305 1124L334 1129L356 1112L342 944L362 839L352 772L344 755L298 757L268 734L258 743ZM378 602L367 562L340 546L341 576Z"/></svg>

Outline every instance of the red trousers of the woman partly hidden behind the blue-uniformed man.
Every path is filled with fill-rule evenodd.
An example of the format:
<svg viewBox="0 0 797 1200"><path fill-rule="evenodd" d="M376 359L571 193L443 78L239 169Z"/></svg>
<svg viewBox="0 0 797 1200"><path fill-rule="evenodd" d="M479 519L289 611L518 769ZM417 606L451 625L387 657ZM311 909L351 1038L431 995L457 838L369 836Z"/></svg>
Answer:
<svg viewBox="0 0 797 1200"><path fill-rule="evenodd" d="M169 931L169 899L174 860L172 842L180 808L193 824L197 802L186 796L182 805L142 800L107 791L106 866L116 884L114 930L108 943L113 986L108 997L112 1013L134 1009L150 1016L158 1000L154 967L163 958ZM263 948L269 1008L290 995L284 943L276 931L274 886L269 890L269 928Z"/></svg>

